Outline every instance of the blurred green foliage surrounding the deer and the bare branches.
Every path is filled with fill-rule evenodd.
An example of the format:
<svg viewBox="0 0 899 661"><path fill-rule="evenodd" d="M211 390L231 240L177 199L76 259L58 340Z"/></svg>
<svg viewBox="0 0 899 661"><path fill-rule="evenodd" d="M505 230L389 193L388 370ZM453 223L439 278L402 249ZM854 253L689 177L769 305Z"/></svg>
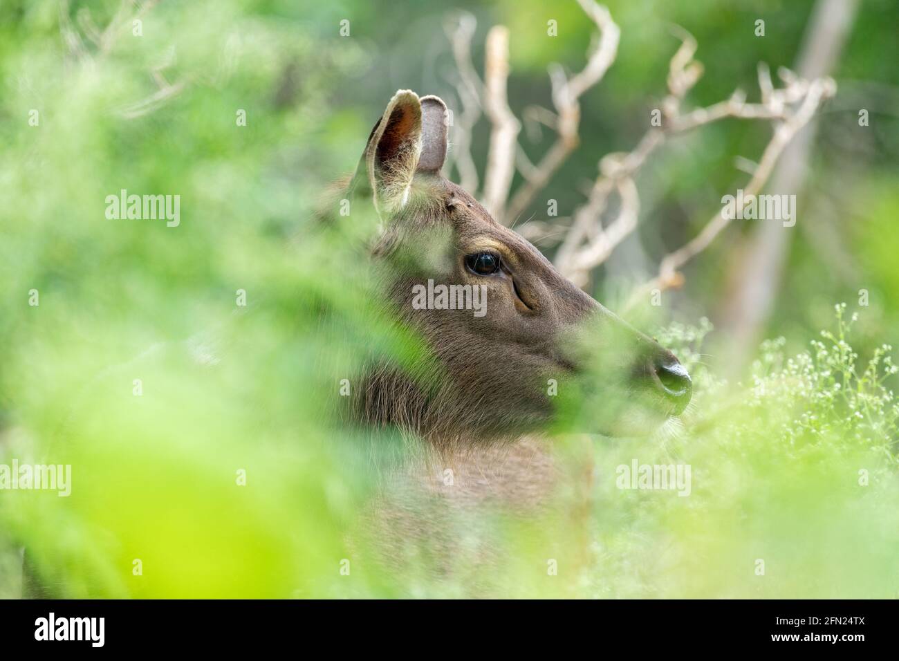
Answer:
<svg viewBox="0 0 899 661"><path fill-rule="evenodd" d="M569 216L600 157L636 145L665 94L672 25L695 36L705 65L688 103L737 86L755 100L757 63L795 65L814 3L608 6L618 58L583 96L581 146L529 219L546 219L547 198ZM22 594L22 548L62 596L465 594L459 577L476 572L465 558L436 583L364 562L340 574L343 558L364 556L349 531L377 462L325 412L360 356L414 360L419 347L378 322L352 253L373 219L312 231L321 192L355 166L397 89L439 94L458 112L444 27L459 11L476 17L478 71L486 31L509 26L516 112L549 107L547 65L579 70L594 31L574 2L537 0L0 0L0 462L70 463L74 476L68 498L0 492L0 596ZM764 38L752 34L760 18ZM667 327L658 335L697 371L684 428L663 444L601 444L585 519L508 523L491 594L899 594L895 377L889 363L865 376L878 346L899 344L896 24L891 0L861 2L852 18L776 298L742 347L743 369L732 370L726 332L700 347L690 328L733 323L734 264L753 221L728 228L641 322ZM482 121L473 139L482 168L488 131ZM729 120L663 147L637 180L639 228L592 274L591 293L619 308L746 181L735 156L758 158L769 137L764 122ZM521 135L531 160L551 140ZM106 196L121 189L179 194L180 225L107 219ZM858 361L841 337L824 357L809 349L841 301L845 317L859 313L845 338ZM809 371L783 358L806 350ZM396 451L391 434L381 441L378 452ZM634 456L689 461L700 486L684 499L617 491L613 467ZM541 540L581 558L576 576L547 580ZM763 580L756 558L770 558Z"/></svg>

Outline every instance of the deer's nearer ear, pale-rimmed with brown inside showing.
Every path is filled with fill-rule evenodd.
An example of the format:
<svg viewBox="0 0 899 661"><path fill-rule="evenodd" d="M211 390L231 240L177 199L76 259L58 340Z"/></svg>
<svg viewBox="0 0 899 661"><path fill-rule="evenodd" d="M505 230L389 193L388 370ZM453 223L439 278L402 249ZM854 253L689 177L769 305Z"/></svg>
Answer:
<svg viewBox="0 0 899 661"><path fill-rule="evenodd" d="M405 204L422 151L422 103L400 90L387 103L365 147L365 164L378 210Z"/></svg>

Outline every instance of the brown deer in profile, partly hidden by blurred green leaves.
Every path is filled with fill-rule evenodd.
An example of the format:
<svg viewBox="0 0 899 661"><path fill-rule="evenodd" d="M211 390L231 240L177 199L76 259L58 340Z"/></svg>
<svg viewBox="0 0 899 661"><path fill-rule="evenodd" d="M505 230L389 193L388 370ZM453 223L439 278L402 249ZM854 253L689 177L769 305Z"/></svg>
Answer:
<svg viewBox="0 0 899 661"><path fill-rule="evenodd" d="M441 174L448 125L441 98L397 91L343 183L353 204L370 203L380 221L369 251L385 305L432 353L416 373L369 364L352 401L354 420L398 429L419 450L387 480L395 504L400 493L405 505L377 508L381 533L405 541L439 535L435 507L527 512L546 504L561 478L546 431L560 418L577 418L589 433L652 433L681 414L692 391L670 351ZM467 309L461 296L460 305L415 305L441 286L482 290L485 309ZM575 415L556 397L563 392L576 394L568 400ZM601 406L577 415L587 396ZM423 499L429 505L410 517L408 503Z"/></svg>

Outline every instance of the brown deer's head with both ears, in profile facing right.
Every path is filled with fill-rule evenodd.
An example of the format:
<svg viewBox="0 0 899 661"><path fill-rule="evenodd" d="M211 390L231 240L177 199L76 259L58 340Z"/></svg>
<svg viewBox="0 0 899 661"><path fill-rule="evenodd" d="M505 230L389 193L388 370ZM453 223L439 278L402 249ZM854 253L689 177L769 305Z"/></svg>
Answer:
<svg viewBox="0 0 899 661"><path fill-rule="evenodd" d="M441 99L397 92L352 180L382 222L374 255L386 298L432 350L432 361L411 371L370 367L366 420L477 442L575 410L590 426L581 431L610 435L645 433L679 415L691 384L674 355L442 176L447 123Z"/></svg>

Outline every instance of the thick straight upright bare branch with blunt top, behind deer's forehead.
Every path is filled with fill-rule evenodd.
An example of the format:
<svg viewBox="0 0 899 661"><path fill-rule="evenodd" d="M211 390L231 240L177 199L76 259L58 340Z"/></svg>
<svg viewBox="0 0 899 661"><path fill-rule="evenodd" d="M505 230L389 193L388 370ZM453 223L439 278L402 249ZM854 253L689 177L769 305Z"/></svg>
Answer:
<svg viewBox="0 0 899 661"><path fill-rule="evenodd" d="M503 218L503 207L515 174L515 151L521 124L509 108L509 30L494 25L487 33L484 111L493 124L484 177L483 202L494 218Z"/></svg>

